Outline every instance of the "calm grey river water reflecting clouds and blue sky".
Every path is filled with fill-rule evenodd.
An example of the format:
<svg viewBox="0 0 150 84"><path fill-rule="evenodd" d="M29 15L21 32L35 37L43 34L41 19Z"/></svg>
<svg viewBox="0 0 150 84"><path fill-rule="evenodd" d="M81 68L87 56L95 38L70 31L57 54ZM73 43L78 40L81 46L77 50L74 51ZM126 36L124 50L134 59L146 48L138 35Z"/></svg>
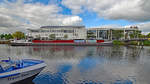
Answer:
<svg viewBox="0 0 150 84"><path fill-rule="evenodd" d="M0 56L44 60L31 84L150 84L150 47L0 45Z"/></svg>

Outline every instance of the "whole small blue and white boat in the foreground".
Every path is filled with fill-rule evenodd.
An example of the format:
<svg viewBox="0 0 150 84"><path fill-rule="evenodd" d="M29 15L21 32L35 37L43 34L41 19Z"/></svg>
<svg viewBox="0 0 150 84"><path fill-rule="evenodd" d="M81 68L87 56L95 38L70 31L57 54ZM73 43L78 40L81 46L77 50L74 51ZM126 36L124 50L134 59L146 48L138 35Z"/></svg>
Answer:
<svg viewBox="0 0 150 84"><path fill-rule="evenodd" d="M12 84L36 77L46 64L41 60L0 59L0 84Z"/></svg>

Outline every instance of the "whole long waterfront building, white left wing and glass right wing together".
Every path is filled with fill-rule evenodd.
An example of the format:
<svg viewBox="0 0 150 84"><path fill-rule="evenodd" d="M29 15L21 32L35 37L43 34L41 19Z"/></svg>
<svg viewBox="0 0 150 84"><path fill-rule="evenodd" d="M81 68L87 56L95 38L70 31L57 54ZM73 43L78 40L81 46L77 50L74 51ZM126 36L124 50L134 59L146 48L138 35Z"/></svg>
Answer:
<svg viewBox="0 0 150 84"><path fill-rule="evenodd" d="M126 28L85 28L85 26L42 26L39 29L28 29L29 37L39 39L97 39L120 40L138 38L140 30L137 26ZM134 35L133 35L134 34Z"/></svg>

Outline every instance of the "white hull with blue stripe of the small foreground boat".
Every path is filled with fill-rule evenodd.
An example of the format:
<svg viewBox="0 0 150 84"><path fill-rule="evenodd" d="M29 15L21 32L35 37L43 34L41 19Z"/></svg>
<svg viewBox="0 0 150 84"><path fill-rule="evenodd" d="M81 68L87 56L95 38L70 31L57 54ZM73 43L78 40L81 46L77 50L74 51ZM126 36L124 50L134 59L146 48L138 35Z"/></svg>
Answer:
<svg viewBox="0 0 150 84"><path fill-rule="evenodd" d="M26 67L24 69L19 69L9 73L4 73L3 75L0 75L0 83L12 84L12 83L17 83L19 81L23 81L31 77L33 79L33 77L38 75L45 68L45 66L46 65L44 63L41 63L35 66Z"/></svg>

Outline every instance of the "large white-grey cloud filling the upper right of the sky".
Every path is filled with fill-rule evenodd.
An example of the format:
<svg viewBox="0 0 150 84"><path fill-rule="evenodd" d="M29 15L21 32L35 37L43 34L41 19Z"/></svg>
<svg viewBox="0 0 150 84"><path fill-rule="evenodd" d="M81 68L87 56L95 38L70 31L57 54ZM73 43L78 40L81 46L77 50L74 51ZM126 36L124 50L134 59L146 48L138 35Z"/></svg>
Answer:
<svg viewBox="0 0 150 84"><path fill-rule="evenodd" d="M63 0L62 4L74 14L86 9L105 19L150 20L150 0Z"/></svg>

